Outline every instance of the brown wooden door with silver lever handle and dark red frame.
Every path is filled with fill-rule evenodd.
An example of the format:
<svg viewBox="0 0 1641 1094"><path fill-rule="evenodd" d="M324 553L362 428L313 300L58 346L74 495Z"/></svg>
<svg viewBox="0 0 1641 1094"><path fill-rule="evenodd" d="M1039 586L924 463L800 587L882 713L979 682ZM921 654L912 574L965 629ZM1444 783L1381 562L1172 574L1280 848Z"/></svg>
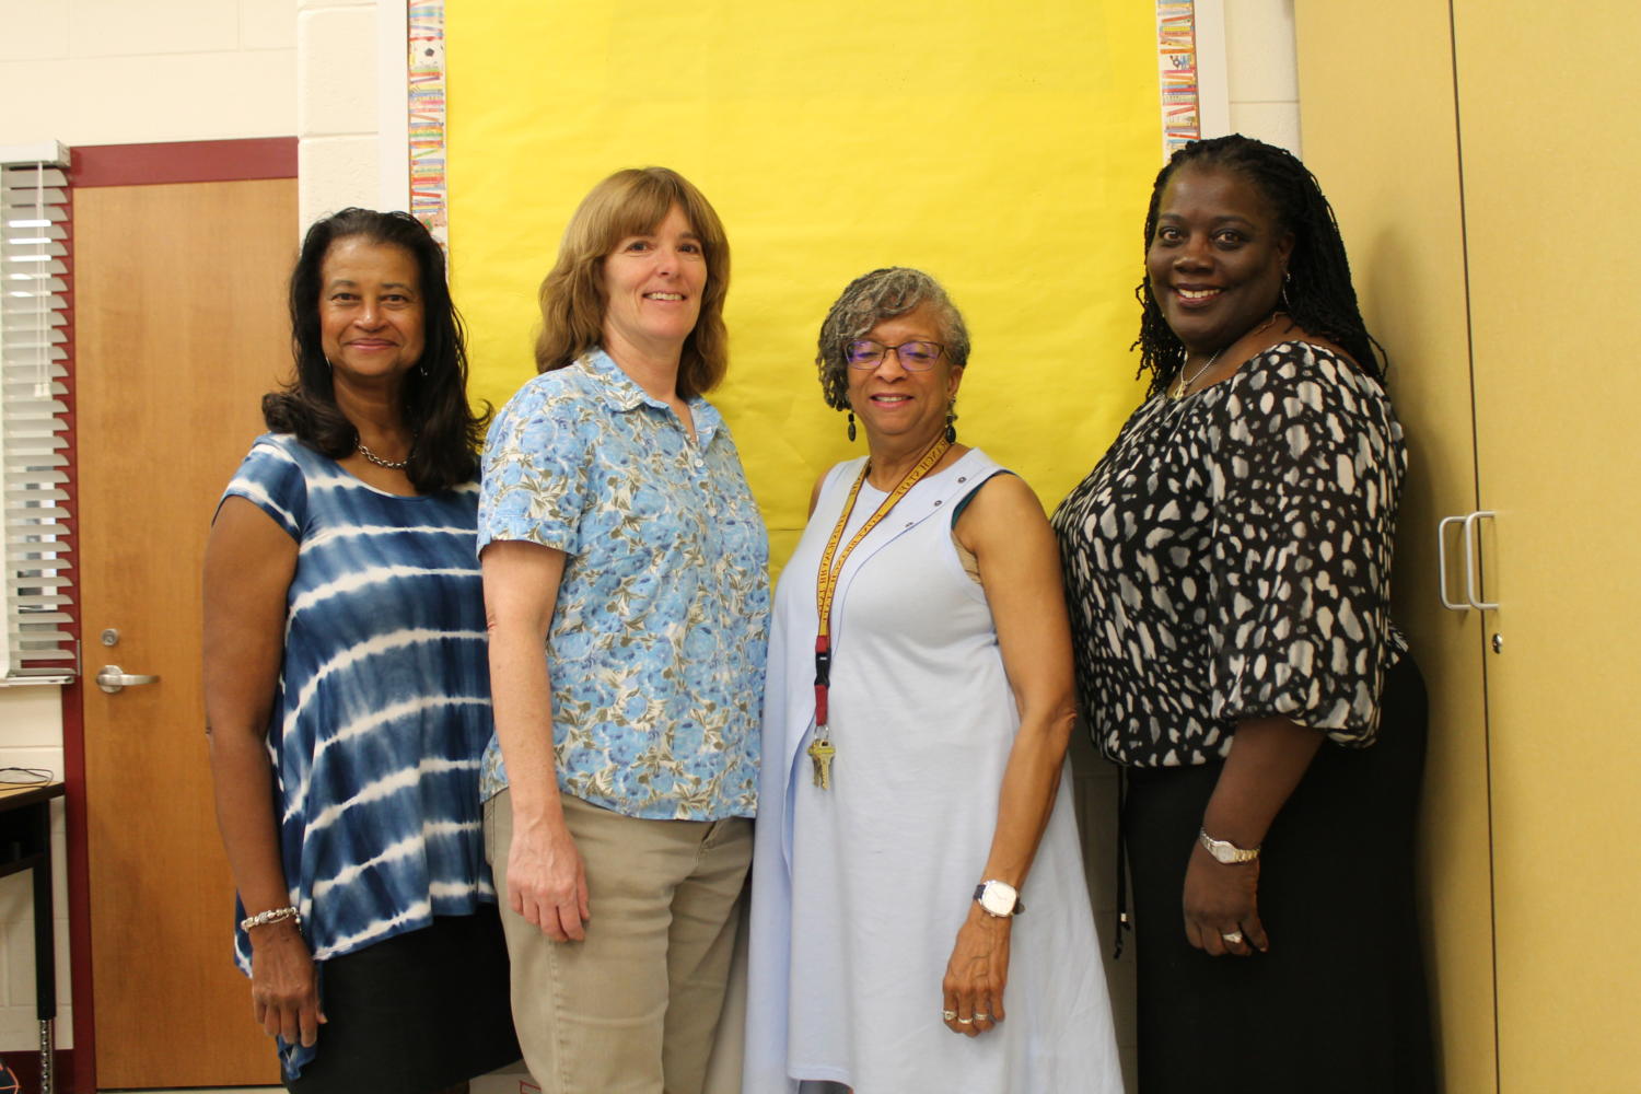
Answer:
<svg viewBox="0 0 1641 1094"><path fill-rule="evenodd" d="M200 699L212 510L289 372L295 180L74 194L85 800L100 1087L277 1083L231 963ZM105 646L103 631L118 631Z"/></svg>

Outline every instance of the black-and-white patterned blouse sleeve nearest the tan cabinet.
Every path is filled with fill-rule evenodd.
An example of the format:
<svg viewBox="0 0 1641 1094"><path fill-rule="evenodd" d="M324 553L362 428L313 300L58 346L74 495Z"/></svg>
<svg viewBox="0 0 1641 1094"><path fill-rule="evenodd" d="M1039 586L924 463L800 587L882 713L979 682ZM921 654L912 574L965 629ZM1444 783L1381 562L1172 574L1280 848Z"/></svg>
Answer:
<svg viewBox="0 0 1641 1094"><path fill-rule="evenodd" d="M1214 715L1370 745L1405 451L1383 390L1318 346L1249 366L1214 423Z"/></svg>

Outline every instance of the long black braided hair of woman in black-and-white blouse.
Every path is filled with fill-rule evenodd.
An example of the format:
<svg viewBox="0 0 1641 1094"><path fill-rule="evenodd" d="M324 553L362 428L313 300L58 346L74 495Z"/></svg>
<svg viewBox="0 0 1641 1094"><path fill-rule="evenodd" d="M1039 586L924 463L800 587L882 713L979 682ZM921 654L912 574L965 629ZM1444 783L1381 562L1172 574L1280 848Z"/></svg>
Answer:
<svg viewBox="0 0 1641 1094"><path fill-rule="evenodd" d="M1255 141L1232 133L1208 141L1193 141L1168 157L1157 172L1145 210L1145 248L1150 249L1157 233L1157 213L1162 192L1182 167L1234 171L1252 182L1277 212L1278 226L1293 233L1293 251L1288 256L1291 280L1285 285L1282 310L1313 335L1337 343L1359 369L1375 379L1383 379L1383 346L1367 333L1362 310L1351 285L1351 262L1339 238L1339 223L1332 207L1323 197L1305 164L1285 148ZM1134 295L1140 303L1139 371L1136 377L1150 372L1149 394L1168 389L1185 362L1185 346L1168 328L1162 307L1150 290L1150 279L1140 280Z"/></svg>

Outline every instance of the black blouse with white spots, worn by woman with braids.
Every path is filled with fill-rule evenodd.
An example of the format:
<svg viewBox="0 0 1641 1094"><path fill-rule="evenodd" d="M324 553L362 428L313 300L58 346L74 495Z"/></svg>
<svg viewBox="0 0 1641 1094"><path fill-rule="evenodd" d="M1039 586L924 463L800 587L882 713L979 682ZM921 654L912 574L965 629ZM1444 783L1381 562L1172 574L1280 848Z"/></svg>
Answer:
<svg viewBox="0 0 1641 1094"><path fill-rule="evenodd" d="M1372 745L1405 469L1383 389L1323 346L1140 405L1054 513L1101 751L1201 764L1268 715Z"/></svg>

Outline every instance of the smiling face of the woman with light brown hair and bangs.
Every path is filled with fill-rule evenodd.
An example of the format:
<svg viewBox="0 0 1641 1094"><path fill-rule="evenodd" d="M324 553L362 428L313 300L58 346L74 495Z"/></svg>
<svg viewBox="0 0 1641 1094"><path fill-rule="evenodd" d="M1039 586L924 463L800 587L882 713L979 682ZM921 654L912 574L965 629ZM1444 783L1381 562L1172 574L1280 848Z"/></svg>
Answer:
<svg viewBox="0 0 1641 1094"><path fill-rule="evenodd" d="M615 241L604 258L604 349L645 356L683 351L707 287L706 249L673 205L655 228Z"/></svg>

